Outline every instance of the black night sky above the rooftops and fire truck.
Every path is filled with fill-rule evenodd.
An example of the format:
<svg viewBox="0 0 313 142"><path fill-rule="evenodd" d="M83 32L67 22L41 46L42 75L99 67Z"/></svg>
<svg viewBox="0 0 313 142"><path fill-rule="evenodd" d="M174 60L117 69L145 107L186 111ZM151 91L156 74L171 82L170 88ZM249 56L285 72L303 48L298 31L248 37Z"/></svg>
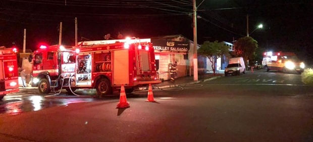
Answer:
<svg viewBox="0 0 313 142"><path fill-rule="evenodd" d="M296 52L308 63L313 61L313 2L268 0L196 1L198 44L205 40L232 42L249 32L259 48ZM75 45L75 17L78 41L81 37L103 40L110 33L117 39L182 34L193 40L192 1L190 0L1 0L0 46L14 42L35 50L41 43L58 44L62 22L62 43ZM84 39L84 40L85 40Z"/></svg>

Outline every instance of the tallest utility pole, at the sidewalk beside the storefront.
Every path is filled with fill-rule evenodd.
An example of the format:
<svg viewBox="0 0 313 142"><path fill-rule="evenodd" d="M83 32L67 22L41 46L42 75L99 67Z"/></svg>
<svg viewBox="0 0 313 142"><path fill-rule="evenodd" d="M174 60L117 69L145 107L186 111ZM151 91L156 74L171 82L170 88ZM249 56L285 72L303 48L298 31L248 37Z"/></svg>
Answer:
<svg viewBox="0 0 313 142"><path fill-rule="evenodd" d="M196 81L198 80L197 7L196 7L196 0L193 0L193 80L196 80Z"/></svg>

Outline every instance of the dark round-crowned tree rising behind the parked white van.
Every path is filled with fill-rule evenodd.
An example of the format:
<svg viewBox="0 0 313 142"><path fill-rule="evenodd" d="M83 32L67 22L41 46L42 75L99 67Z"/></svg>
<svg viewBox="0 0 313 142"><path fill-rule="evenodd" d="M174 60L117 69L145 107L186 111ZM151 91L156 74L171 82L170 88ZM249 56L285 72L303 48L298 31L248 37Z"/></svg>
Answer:
<svg viewBox="0 0 313 142"><path fill-rule="evenodd" d="M234 43L233 48L235 56L243 57L244 62L247 63L255 57L257 41L250 36L241 37Z"/></svg>

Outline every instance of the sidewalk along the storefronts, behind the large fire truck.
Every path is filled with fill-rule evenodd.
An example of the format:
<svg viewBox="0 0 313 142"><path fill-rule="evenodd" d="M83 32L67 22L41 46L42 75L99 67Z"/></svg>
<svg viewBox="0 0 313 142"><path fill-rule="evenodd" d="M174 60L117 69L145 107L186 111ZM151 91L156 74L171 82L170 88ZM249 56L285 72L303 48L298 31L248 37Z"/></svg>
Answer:
<svg viewBox="0 0 313 142"><path fill-rule="evenodd" d="M215 72L215 75L213 74L213 71L211 72L206 72L205 74L198 74L198 80L195 81L193 80L193 76L184 76L184 77L179 77L176 78L174 82L170 80L163 81L160 84L155 84L152 85L152 89L157 89L157 88L169 88L169 87L178 87L178 86L183 86L187 84L196 84L200 82L205 82L205 81L210 81L214 80L217 78L220 78L224 76L224 70L219 70ZM20 91L38 91L37 87L19 87ZM147 87L141 87L140 90L147 90Z"/></svg>

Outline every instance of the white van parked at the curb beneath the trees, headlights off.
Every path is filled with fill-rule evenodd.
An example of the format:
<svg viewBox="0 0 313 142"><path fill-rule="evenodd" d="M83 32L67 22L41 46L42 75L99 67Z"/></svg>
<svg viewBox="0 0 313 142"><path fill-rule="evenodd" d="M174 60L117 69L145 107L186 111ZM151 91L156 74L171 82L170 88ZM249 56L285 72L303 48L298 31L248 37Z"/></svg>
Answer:
<svg viewBox="0 0 313 142"><path fill-rule="evenodd" d="M240 75L240 73L245 74L246 66L244 64L242 57L231 58L229 60L228 66L225 68L225 76L231 75Z"/></svg>

